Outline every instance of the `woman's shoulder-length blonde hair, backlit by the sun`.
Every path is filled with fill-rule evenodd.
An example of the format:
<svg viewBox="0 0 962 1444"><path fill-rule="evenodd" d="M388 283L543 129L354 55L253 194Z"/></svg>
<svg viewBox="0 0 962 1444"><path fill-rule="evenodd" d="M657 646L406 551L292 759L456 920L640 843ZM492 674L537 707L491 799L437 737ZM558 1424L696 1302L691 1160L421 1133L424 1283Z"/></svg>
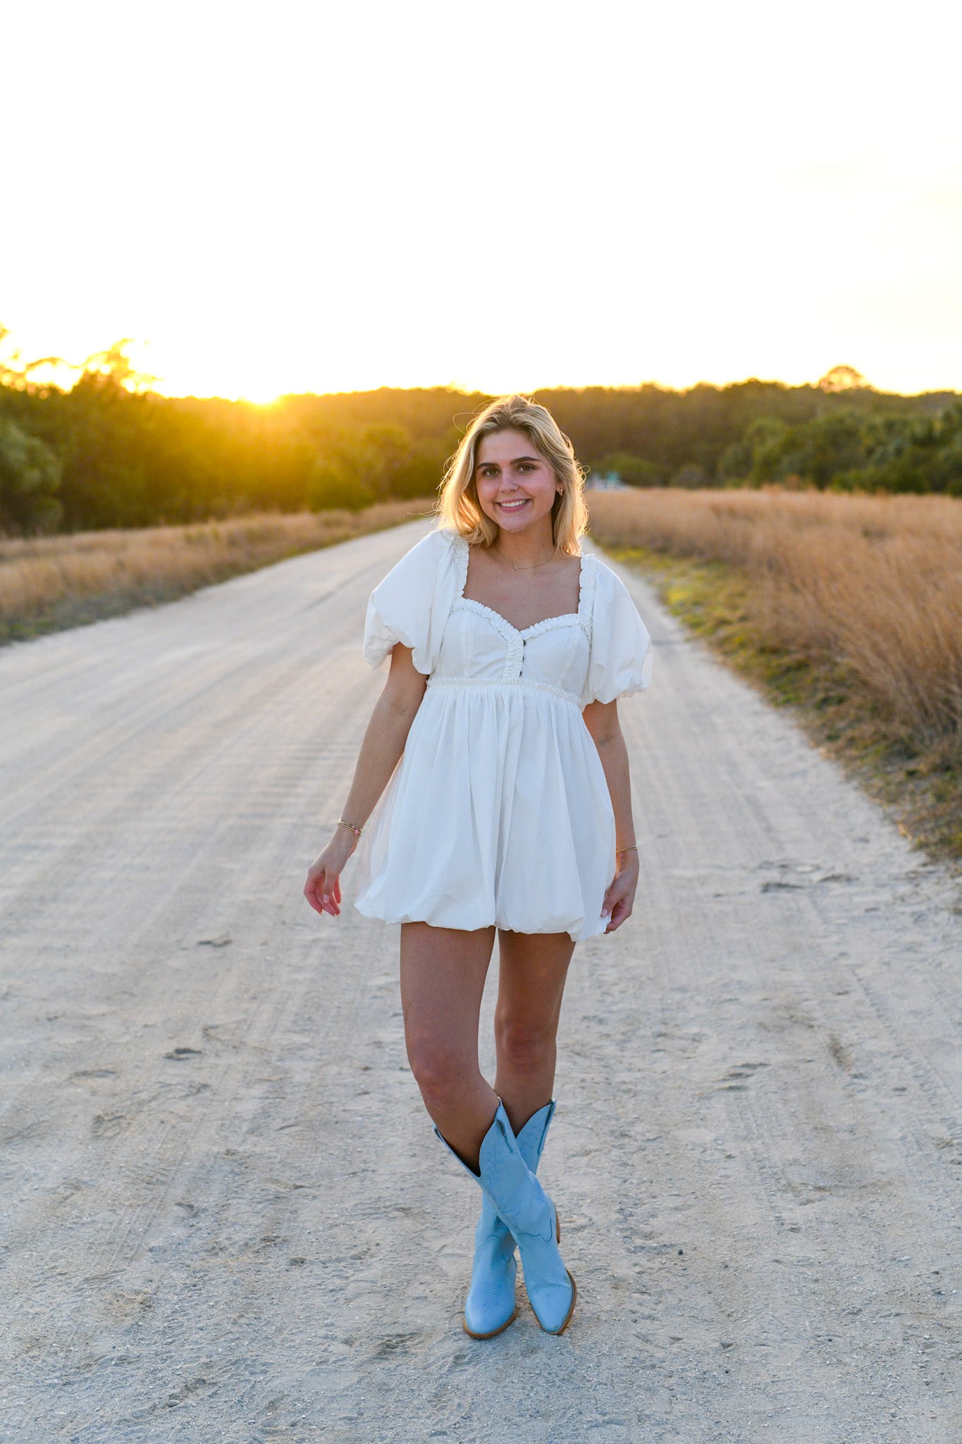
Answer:
<svg viewBox="0 0 962 1444"><path fill-rule="evenodd" d="M574 446L558 429L551 412L526 396L500 396L485 406L462 436L447 464L437 504L438 526L457 531L472 544L490 546L498 523L486 517L477 501L475 484L477 443L493 432L524 432L555 474L561 494L551 507L551 534L555 552L578 556L580 537L588 527L584 504L584 469L574 459Z"/></svg>

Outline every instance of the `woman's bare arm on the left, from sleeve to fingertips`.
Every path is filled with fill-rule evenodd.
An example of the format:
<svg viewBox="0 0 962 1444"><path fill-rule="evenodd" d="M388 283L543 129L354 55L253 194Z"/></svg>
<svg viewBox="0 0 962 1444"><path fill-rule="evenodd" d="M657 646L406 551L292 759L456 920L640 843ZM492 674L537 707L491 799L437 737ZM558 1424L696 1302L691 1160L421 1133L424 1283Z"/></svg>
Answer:
<svg viewBox="0 0 962 1444"><path fill-rule="evenodd" d="M374 806L388 786L394 768L411 731L411 723L424 699L427 677L412 660L411 648L398 643L391 653L391 671L378 697L358 754L353 781L342 817L363 827ZM336 827L322 853L307 869L304 897L314 913L340 913L340 872L358 846L355 833Z"/></svg>

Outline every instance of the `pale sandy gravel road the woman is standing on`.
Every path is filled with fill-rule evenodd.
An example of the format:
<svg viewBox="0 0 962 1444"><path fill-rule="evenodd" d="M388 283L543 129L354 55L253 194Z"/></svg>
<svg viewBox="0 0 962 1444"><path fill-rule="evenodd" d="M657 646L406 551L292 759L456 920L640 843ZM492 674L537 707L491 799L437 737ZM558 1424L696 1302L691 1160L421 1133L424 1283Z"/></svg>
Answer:
<svg viewBox="0 0 962 1444"><path fill-rule="evenodd" d="M578 1307L462 1333L397 930L300 897L423 530L0 656L0 1438L958 1444L958 887L627 573L643 881L542 1164Z"/></svg>

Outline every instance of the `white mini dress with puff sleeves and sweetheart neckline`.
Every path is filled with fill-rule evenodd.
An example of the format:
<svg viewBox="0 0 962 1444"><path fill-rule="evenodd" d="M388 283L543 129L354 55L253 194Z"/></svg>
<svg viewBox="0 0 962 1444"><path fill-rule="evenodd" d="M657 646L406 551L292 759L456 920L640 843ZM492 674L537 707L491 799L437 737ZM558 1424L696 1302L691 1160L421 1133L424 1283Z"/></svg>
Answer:
<svg viewBox="0 0 962 1444"><path fill-rule="evenodd" d="M518 630L463 595L469 546L437 529L371 593L363 656L411 647L427 689L356 852L355 907L385 923L603 933L614 814L588 702L650 680L614 572L581 557L577 612Z"/></svg>

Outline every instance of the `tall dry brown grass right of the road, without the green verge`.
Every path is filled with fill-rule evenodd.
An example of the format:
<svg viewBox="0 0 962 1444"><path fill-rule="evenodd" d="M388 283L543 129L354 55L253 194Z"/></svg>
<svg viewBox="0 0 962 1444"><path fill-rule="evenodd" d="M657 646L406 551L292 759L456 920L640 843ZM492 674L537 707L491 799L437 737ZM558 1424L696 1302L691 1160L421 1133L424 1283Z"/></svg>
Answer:
<svg viewBox="0 0 962 1444"><path fill-rule="evenodd" d="M727 562L775 647L841 663L899 728L962 747L962 503L630 491L590 498L604 546Z"/></svg>

